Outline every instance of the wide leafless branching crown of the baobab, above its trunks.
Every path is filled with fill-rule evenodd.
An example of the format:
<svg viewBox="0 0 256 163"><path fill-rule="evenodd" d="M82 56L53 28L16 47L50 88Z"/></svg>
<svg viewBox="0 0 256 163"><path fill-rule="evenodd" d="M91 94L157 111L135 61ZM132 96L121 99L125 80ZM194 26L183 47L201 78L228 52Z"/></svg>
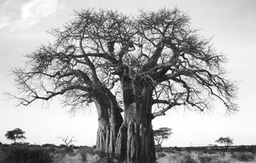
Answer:
<svg viewBox="0 0 256 163"><path fill-rule="evenodd" d="M113 90L122 106L122 93L132 89L140 99L141 85L152 85L152 104L164 115L175 106L200 111L219 99L236 111L236 85L227 80L225 55L199 34L183 11L161 9L126 16L111 10L80 10L60 29L56 41L26 55L26 68L13 70L20 104L62 95L63 103L81 108L92 95ZM120 78L132 80L121 88Z"/></svg>

